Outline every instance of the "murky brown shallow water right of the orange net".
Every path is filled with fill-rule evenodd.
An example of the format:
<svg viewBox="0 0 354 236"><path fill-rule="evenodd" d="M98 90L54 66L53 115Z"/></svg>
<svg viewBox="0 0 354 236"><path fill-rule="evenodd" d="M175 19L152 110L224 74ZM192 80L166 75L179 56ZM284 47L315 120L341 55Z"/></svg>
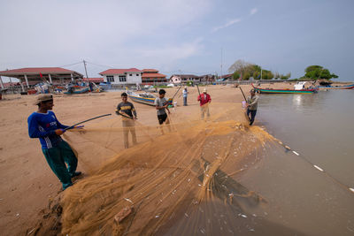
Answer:
<svg viewBox="0 0 354 236"><path fill-rule="evenodd" d="M260 95L256 124L299 156L275 142L237 178L268 202L254 213L306 235L354 234L354 193L348 188L354 187L353 101L351 90Z"/></svg>

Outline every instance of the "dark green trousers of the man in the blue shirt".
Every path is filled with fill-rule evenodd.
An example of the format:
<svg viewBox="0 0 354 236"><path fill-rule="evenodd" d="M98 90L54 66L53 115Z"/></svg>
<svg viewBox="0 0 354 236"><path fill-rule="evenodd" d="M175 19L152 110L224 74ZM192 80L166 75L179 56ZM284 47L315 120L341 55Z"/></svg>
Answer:
<svg viewBox="0 0 354 236"><path fill-rule="evenodd" d="M76 171L78 160L69 144L66 141L61 141L58 146L42 149L42 151L51 171L56 174L63 184L63 189L72 186L72 176Z"/></svg>

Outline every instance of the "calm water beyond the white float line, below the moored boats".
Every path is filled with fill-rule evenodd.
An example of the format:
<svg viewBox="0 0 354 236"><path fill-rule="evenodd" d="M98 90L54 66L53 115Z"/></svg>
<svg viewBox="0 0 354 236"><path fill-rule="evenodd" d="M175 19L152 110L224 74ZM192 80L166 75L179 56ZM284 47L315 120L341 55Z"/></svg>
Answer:
<svg viewBox="0 0 354 236"><path fill-rule="evenodd" d="M354 187L354 90L261 95L257 118L343 184Z"/></svg>

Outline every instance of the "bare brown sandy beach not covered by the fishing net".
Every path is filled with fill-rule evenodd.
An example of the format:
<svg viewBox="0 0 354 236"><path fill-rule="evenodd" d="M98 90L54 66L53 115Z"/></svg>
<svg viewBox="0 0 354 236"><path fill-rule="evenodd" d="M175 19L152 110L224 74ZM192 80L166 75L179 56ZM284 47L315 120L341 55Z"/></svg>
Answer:
<svg viewBox="0 0 354 236"><path fill-rule="evenodd" d="M242 86L249 91L250 86ZM167 88L167 97L177 88ZM202 89L202 88L200 88ZM240 107L242 94L230 86L210 86L212 103L235 103ZM120 103L121 92L85 95L55 95L54 109L58 120L71 125L97 115L114 113ZM173 122L181 122L183 114L199 117L196 87L189 88L189 106L183 107L181 91L176 95L178 107L172 109ZM41 210L47 208L61 190L57 177L50 171L42 155L40 143L27 133L27 117L36 110L34 95L4 95L0 101L0 232L3 235L24 234L42 218ZM146 126L156 126L156 110L148 105L135 103L139 121ZM244 119L240 117L236 120ZM100 120L92 121L92 123ZM79 171L85 172L79 161Z"/></svg>

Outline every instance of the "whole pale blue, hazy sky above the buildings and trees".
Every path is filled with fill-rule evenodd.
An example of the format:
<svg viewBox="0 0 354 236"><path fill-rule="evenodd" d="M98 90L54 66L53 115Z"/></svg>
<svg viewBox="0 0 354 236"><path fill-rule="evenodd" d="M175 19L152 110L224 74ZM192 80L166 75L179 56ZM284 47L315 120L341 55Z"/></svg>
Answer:
<svg viewBox="0 0 354 236"><path fill-rule="evenodd" d="M226 74L236 60L354 80L351 0L2 0L0 70L61 66ZM222 68L221 68L222 65ZM6 78L3 77L3 80Z"/></svg>

